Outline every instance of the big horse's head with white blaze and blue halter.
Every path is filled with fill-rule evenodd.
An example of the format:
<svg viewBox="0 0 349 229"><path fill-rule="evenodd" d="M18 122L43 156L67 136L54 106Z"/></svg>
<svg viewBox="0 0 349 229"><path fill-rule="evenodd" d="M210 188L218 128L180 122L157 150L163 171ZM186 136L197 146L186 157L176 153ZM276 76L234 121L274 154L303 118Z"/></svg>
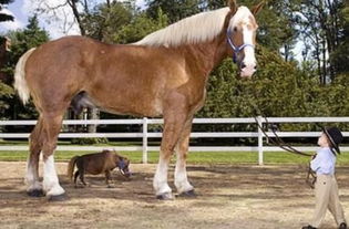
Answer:
<svg viewBox="0 0 349 229"><path fill-rule="evenodd" d="M258 24L255 15L263 6L264 2L260 2L249 10L247 7L237 7L235 0L229 0L233 17L227 28L228 54L233 55L242 77L250 77L257 70L255 46Z"/></svg>

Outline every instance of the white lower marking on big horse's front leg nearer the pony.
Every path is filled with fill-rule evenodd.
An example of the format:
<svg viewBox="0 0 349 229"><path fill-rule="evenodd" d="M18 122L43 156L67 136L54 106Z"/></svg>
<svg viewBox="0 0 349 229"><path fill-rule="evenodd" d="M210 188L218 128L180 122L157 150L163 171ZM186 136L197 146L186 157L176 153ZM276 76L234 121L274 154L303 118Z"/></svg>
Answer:
<svg viewBox="0 0 349 229"><path fill-rule="evenodd" d="M172 192L172 189L167 184L167 170L168 163L161 158L157 164L156 173L153 180L153 187L155 189L156 196L166 192L170 194Z"/></svg>

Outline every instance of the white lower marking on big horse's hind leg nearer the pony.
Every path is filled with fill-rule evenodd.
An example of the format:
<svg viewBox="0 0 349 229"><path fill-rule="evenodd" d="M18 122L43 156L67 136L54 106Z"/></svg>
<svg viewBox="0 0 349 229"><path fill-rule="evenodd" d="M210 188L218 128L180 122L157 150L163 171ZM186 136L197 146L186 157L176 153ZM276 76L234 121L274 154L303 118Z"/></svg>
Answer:
<svg viewBox="0 0 349 229"><path fill-rule="evenodd" d="M43 190L48 197L64 194L64 189L59 184L53 155L49 156L43 164Z"/></svg>

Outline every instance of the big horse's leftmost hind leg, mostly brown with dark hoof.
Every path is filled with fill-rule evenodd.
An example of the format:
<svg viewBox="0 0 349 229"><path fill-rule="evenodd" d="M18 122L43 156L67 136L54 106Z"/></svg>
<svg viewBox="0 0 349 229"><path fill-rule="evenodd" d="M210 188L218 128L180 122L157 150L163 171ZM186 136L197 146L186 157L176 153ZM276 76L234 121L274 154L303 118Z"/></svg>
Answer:
<svg viewBox="0 0 349 229"><path fill-rule="evenodd" d="M42 185L39 181L39 156L44 140L43 123L39 117L38 123L30 135L30 154L27 162L25 183L27 194L32 197L43 196Z"/></svg>

